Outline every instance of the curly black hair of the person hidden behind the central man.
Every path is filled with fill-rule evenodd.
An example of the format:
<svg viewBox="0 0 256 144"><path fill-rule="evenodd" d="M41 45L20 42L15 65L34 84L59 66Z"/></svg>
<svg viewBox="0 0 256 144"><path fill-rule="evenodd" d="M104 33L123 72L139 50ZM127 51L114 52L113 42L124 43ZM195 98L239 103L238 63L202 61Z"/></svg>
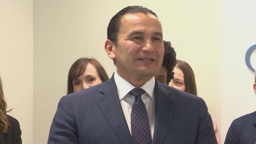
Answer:
<svg viewBox="0 0 256 144"><path fill-rule="evenodd" d="M171 42L163 41L164 46L164 55L163 55L163 63L162 66L167 70L167 77L166 77L166 83L167 85L171 81L171 79L174 78L174 72L173 69L177 64L176 61L176 52L174 51L174 48L171 46Z"/></svg>

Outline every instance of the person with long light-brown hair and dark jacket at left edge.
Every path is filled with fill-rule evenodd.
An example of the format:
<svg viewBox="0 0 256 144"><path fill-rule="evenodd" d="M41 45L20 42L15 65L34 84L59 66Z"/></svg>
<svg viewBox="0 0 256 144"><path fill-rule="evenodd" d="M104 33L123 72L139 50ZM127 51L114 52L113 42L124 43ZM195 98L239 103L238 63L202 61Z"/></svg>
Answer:
<svg viewBox="0 0 256 144"><path fill-rule="evenodd" d="M2 80L0 77L0 144L21 144L21 130L19 122L7 115L7 104L4 99Z"/></svg>

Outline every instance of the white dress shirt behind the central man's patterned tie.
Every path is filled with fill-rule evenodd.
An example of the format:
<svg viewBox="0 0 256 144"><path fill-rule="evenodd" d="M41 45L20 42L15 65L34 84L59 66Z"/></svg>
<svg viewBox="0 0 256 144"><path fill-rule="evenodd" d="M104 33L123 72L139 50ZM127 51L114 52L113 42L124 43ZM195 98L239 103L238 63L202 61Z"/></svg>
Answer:
<svg viewBox="0 0 256 144"><path fill-rule="evenodd" d="M134 96L129 94L129 92L136 87L134 87L128 81L123 79L117 73L117 71L114 74L114 78L117 85L117 93L123 109L123 113L124 113L128 128L130 130L130 134L132 135L131 112L132 112L132 107L134 102ZM155 77L153 76L148 82L146 82L140 88L146 92L141 95L141 99L144 102L147 110L151 137L153 139L154 124L155 124L155 94L154 94Z"/></svg>

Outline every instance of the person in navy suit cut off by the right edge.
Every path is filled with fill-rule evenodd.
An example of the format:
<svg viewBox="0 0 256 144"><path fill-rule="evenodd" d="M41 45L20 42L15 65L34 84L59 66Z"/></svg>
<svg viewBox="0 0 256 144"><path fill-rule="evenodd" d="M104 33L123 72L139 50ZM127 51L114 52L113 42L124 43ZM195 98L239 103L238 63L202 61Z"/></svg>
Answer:
<svg viewBox="0 0 256 144"><path fill-rule="evenodd" d="M253 90L256 94L256 72ZM241 116L231 123L224 144L256 144L256 111Z"/></svg>

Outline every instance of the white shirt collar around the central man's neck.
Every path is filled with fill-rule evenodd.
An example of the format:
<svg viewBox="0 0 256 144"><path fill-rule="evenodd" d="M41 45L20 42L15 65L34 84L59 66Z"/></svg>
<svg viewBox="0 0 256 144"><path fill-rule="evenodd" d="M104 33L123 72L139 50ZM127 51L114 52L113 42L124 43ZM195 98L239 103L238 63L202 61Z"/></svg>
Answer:
<svg viewBox="0 0 256 144"><path fill-rule="evenodd" d="M121 100L127 93L136 88L124 78L122 78L117 71L114 73L115 82L117 85L117 93L119 100ZM153 76L149 81L147 81L143 86L140 87L155 101L154 88L155 88L155 77Z"/></svg>

